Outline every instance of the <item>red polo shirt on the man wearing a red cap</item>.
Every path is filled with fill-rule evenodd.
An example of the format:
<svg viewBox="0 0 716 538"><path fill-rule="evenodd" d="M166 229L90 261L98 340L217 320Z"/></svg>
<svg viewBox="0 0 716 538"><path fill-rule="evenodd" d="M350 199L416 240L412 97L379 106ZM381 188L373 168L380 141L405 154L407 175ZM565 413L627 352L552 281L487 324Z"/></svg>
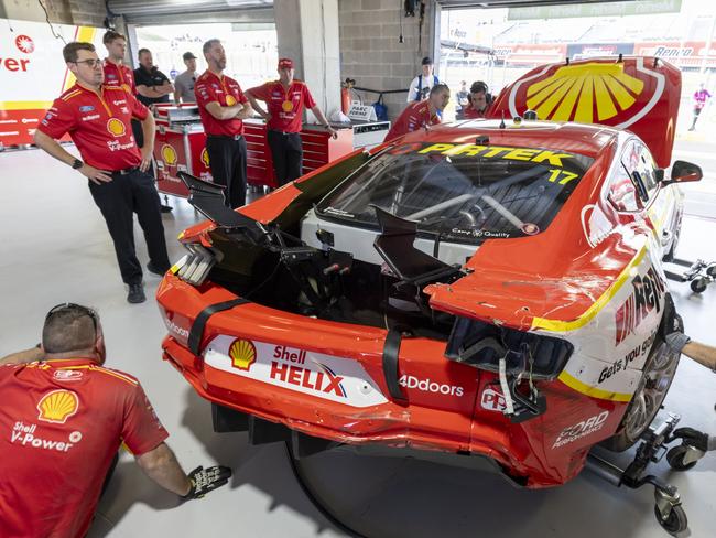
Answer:
<svg viewBox="0 0 716 538"><path fill-rule="evenodd" d="M271 119L267 126L274 131L301 132L303 107L311 109L316 106L308 86L302 80L293 80L289 89L281 80L262 84L249 92L265 101Z"/></svg>

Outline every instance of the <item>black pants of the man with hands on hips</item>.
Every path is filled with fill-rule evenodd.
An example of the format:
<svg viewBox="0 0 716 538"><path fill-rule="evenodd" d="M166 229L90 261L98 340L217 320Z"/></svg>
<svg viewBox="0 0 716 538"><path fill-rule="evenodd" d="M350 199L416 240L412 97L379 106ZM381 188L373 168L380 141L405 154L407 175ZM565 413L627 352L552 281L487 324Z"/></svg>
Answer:
<svg viewBox="0 0 716 538"><path fill-rule="evenodd" d="M164 226L160 213L154 179L139 169L128 174L112 173L109 183L89 182L89 192L101 211L115 243L119 271L127 284L142 281L142 266L134 254L134 217L144 232L149 258L160 270L170 268Z"/></svg>

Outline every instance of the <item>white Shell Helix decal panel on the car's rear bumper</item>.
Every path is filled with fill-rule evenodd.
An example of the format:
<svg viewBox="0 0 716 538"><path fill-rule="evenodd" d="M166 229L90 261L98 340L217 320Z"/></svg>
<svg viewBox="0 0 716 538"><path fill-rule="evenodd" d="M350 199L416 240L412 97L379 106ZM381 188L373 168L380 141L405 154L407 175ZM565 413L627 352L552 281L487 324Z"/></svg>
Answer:
<svg viewBox="0 0 716 538"><path fill-rule="evenodd" d="M366 408L388 400L359 362L256 340L216 336L204 363L219 369L316 398ZM211 372L205 372L210 383Z"/></svg>

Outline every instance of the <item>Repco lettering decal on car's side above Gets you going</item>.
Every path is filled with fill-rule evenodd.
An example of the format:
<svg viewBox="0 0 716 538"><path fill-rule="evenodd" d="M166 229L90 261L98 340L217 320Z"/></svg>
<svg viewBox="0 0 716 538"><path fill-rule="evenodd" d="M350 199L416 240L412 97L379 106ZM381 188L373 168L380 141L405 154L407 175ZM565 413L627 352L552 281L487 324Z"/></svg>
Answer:
<svg viewBox="0 0 716 538"><path fill-rule="evenodd" d="M616 345L632 334L653 310L660 311L666 283L653 267L649 267L644 276L637 275L631 280L631 287L633 291L615 314Z"/></svg>

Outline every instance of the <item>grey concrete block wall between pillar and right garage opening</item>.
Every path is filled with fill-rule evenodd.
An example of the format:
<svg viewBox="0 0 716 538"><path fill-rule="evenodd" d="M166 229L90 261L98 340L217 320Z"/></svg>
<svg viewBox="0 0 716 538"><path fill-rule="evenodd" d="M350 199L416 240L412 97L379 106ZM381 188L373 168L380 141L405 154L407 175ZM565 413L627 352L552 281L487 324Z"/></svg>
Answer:
<svg viewBox="0 0 716 538"><path fill-rule="evenodd" d="M408 89L423 56L433 56L430 37L435 7L433 1L425 4L419 50L419 17L403 17L402 0L338 0L340 79L355 78L357 86L371 89ZM398 39L401 19L403 43ZM406 95L384 96L390 119L403 110ZM366 104L377 98L377 94L364 94Z"/></svg>

